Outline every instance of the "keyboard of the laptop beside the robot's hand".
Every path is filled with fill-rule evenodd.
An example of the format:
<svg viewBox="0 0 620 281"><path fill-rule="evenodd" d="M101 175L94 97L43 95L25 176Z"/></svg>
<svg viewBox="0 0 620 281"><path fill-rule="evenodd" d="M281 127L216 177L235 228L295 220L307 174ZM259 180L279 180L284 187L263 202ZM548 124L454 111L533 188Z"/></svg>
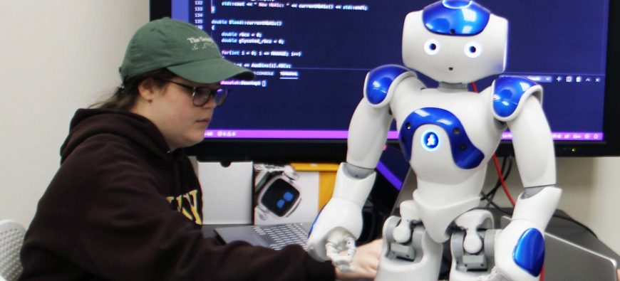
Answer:
<svg viewBox="0 0 620 281"><path fill-rule="evenodd" d="M286 245L301 245L307 250L308 232L300 223L287 223L273 226L252 226L254 231L269 244L269 248L281 250Z"/></svg>

